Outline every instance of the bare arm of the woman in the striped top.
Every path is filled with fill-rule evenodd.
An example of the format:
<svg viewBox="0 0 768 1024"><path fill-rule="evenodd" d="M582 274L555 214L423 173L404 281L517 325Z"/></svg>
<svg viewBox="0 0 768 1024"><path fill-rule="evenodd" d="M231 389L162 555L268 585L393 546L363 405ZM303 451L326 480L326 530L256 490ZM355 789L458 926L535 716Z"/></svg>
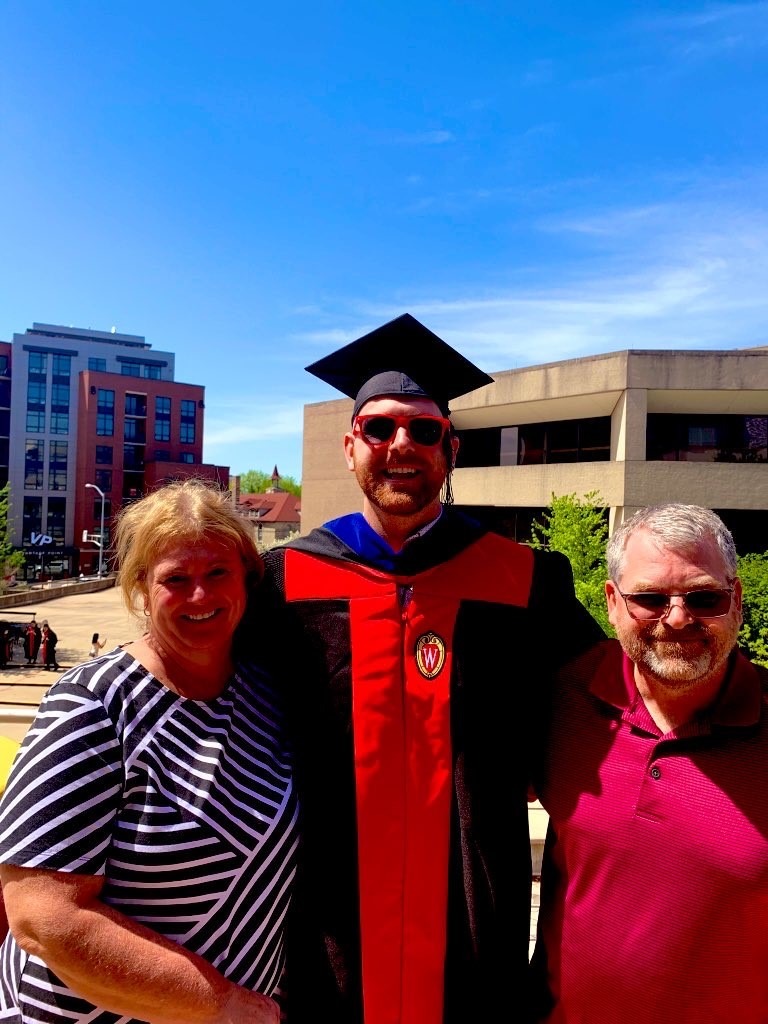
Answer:
<svg viewBox="0 0 768 1024"><path fill-rule="evenodd" d="M151 1024L278 1024L278 1004L102 903L103 879L0 865L18 945L74 992Z"/></svg>

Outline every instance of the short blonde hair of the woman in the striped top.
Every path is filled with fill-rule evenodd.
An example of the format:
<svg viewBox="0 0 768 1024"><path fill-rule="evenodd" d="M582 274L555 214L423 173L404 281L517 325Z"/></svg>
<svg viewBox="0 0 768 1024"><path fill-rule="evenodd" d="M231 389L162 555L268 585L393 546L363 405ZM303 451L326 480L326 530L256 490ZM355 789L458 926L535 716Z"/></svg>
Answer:
<svg viewBox="0 0 768 1024"><path fill-rule="evenodd" d="M253 529L238 515L225 490L191 478L166 483L126 505L118 516L114 542L126 607L138 615L138 603L146 596L146 573L171 545L204 538L234 546L249 586L261 580L264 567Z"/></svg>

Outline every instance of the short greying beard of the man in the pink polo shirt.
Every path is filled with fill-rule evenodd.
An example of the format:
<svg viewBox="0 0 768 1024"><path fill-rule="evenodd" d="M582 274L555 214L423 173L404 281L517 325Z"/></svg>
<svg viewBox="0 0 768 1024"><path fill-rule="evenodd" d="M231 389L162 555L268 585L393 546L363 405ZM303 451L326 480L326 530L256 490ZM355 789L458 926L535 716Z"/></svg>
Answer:
<svg viewBox="0 0 768 1024"><path fill-rule="evenodd" d="M659 622L642 631L617 628L616 635L630 660L668 689L681 692L722 670L736 645L738 623L713 633L705 623L670 630Z"/></svg>

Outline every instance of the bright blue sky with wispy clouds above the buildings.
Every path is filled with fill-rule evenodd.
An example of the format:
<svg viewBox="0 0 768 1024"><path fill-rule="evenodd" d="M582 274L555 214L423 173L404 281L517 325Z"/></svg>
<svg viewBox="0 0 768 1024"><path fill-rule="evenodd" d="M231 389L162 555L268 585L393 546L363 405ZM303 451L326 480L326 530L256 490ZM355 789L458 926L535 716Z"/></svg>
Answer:
<svg viewBox="0 0 768 1024"><path fill-rule="evenodd" d="M0 338L140 334L301 477L303 368L768 344L768 2L0 0Z"/></svg>

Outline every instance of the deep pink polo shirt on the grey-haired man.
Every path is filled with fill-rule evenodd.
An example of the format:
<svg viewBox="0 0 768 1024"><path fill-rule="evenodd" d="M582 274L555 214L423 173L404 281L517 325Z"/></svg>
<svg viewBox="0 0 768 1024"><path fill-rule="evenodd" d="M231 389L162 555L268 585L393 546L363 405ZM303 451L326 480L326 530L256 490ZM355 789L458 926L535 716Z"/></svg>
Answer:
<svg viewBox="0 0 768 1024"><path fill-rule="evenodd" d="M710 714L663 736L617 641L570 667L536 785L549 1024L768 1021L766 680L735 655Z"/></svg>

